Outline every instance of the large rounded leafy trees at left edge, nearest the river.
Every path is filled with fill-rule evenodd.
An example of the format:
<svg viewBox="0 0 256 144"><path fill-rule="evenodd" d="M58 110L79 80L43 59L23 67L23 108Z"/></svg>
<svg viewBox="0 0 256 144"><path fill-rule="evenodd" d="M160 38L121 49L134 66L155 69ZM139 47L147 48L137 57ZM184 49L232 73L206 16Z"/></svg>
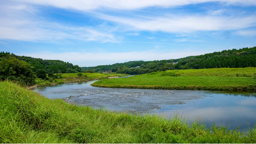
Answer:
<svg viewBox="0 0 256 144"><path fill-rule="evenodd" d="M12 56L0 57L0 79L13 80L23 85L32 85L35 74L30 64L20 61Z"/></svg>

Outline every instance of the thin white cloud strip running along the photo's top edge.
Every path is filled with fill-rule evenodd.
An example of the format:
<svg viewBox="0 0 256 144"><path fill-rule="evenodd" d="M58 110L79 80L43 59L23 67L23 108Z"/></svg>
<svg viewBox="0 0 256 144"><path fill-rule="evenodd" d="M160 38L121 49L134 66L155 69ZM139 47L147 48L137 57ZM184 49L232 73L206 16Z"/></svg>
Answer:
<svg viewBox="0 0 256 144"><path fill-rule="evenodd" d="M100 8L141 9L145 7L175 7L205 2L221 2L232 5L256 5L255 0L19 0L36 5L47 5L64 9L91 11Z"/></svg>

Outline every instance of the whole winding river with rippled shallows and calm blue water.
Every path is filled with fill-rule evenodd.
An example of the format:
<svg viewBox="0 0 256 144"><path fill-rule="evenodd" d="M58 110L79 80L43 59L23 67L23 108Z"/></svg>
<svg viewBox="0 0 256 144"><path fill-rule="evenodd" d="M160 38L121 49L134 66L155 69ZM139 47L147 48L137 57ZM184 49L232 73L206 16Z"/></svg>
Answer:
<svg viewBox="0 0 256 144"><path fill-rule="evenodd" d="M240 131L256 124L256 93L223 93L203 90L123 89L93 87L95 81L36 87L33 91L47 98L110 111L156 114L187 121L200 120L210 128L239 127Z"/></svg>

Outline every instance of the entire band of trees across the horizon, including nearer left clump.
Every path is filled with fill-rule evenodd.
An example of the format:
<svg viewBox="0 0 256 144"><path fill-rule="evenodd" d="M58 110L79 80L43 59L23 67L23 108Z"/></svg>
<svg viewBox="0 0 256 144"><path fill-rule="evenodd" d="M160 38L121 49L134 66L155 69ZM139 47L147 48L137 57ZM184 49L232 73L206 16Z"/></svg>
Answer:
<svg viewBox="0 0 256 144"><path fill-rule="evenodd" d="M32 85L35 78L58 78L54 73L104 72L139 75L154 71L173 69L204 69L219 67L256 67L256 47L228 49L170 60L131 61L96 67L79 67L61 60L43 60L17 56L9 52L0 52L0 80L13 80L25 85Z"/></svg>

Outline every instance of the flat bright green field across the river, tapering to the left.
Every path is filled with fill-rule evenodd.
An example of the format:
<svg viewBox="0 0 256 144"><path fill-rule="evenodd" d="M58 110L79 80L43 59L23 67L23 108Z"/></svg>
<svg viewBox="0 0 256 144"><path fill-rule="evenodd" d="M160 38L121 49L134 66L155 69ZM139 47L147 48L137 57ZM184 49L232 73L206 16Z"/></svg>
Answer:
<svg viewBox="0 0 256 144"><path fill-rule="evenodd" d="M256 90L256 67L158 71L100 80L91 85L141 89Z"/></svg>

